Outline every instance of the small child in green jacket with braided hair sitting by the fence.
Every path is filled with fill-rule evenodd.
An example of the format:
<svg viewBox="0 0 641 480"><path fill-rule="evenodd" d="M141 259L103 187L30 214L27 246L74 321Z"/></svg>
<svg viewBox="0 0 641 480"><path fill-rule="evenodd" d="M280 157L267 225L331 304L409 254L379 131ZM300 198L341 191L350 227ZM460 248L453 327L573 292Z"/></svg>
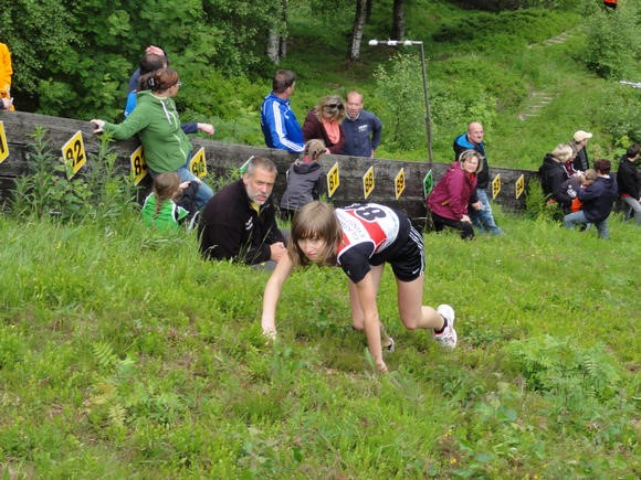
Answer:
<svg viewBox="0 0 641 480"><path fill-rule="evenodd" d="M158 173L154 178L154 191L145 200L140 212L145 225L159 231L178 228L193 216L179 203L189 201L196 192L195 188L198 189L198 183L180 183L180 175L176 172ZM177 203L179 198L182 202Z"/></svg>

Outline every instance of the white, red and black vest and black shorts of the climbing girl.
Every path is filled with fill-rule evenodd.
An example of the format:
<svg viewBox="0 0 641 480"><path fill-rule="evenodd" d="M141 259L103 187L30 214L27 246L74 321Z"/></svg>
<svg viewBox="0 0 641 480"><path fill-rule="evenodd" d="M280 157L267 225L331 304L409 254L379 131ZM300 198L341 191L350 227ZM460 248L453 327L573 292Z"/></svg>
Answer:
<svg viewBox="0 0 641 480"><path fill-rule="evenodd" d="M423 237L401 212L377 203L336 209L343 241L336 260L354 282L372 265L388 262L395 276L411 281L423 274Z"/></svg>

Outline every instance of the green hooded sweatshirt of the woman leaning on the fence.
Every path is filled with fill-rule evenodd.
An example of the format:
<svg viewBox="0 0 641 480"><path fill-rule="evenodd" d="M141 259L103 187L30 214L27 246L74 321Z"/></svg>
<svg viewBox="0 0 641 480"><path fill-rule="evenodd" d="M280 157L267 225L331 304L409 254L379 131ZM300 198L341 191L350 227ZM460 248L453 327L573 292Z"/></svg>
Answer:
<svg viewBox="0 0 641 480"><path fill-rule="evenodd" d="M104 130L115 140L127 140L138 134L145 161L155 173L175 172L185 164L191 142L180 128L172 98L160 98L150 90L138 92L136 108L122 124L105 121Z"/></svg>

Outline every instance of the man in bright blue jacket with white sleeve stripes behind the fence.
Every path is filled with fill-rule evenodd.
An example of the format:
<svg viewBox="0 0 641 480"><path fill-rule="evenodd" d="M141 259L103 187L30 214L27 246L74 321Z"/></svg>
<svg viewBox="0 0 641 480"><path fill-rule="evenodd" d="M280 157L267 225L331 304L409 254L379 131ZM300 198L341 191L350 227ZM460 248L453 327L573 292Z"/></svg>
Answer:
<svg viewBox="0 0 641 480"><path fill-rule="evenodd" d="M294 93L296 74L291 70L280 70L272 82L272 93L261 107L261 128L265 143L270 148L300 153L305 147L303 130L290 108L290 96Z"/></svg>

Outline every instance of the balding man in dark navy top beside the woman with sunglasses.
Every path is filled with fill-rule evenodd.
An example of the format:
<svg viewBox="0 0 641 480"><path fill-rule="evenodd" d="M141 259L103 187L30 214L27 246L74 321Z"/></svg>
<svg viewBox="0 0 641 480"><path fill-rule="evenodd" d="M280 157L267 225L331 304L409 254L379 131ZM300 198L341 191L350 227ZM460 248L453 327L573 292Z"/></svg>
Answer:
<svg viewBox="0 0 641 480"><path fill-rule="evenodd" d="M371 111L362 109L362 95L358 92L349 92L345 105L347 116L343 121L345 147L341 153L374 158L380 143L382 122Z"/></svg>

